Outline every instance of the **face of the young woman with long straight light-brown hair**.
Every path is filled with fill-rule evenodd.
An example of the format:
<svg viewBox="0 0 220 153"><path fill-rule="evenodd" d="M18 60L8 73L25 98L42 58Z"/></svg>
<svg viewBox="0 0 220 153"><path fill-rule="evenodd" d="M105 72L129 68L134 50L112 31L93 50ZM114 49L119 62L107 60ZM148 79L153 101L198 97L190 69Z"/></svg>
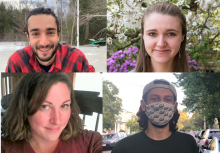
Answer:
<svg viewBox="0 0 220 153"><path fill-rule="evenodd" d="M180 19L152 13L144 19L144 45L154 64L172 64L184 40Z"/></svg>

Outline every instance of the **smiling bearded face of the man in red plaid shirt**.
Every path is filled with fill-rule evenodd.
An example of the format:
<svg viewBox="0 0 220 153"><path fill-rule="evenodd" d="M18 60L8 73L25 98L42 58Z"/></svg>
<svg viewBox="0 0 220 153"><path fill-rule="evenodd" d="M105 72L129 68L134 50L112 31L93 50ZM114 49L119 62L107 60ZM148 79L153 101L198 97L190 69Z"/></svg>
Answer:
<svg viewBox="0 0 220 153"><path fill-rule="evenodd" d="M59 34L52 15L32 15L28 19L29 44L42 65L52 64L58 48Z"/></svg>

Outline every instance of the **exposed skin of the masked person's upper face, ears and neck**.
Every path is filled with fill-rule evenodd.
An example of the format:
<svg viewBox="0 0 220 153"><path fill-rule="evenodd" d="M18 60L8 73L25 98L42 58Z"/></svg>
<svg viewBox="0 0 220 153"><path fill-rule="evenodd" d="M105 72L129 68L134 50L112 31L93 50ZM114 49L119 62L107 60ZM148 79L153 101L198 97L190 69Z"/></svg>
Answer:
<svg viewBox="0 0 220 153"><path fill-rule="evenodd" d="M178 106L177 102L174 103L174 95L172 91L165 88L154 88L150 90L145 101L147 101L147 105L160 101L175 105L174 112L177 110ZM141 100L141 109L142 111L145 111L143 100ZM148 120L148 128L145 130L145 133L153 140L164 140L171 135L171 132L169 131L169 123L164 128L157 128L151 124L150 120Z"/></svg>

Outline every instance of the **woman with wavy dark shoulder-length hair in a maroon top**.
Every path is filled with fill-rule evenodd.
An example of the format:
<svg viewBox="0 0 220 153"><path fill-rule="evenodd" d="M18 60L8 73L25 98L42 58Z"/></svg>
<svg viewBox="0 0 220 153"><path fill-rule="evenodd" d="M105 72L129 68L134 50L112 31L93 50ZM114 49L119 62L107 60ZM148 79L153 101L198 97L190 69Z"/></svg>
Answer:
<svg viewBox="0 0 220 153"><path fill-rule="evenodd" d="M101 153L102 137L83 130L73 84L65 73L28 73L4 114L4 153Z"/></svg>

